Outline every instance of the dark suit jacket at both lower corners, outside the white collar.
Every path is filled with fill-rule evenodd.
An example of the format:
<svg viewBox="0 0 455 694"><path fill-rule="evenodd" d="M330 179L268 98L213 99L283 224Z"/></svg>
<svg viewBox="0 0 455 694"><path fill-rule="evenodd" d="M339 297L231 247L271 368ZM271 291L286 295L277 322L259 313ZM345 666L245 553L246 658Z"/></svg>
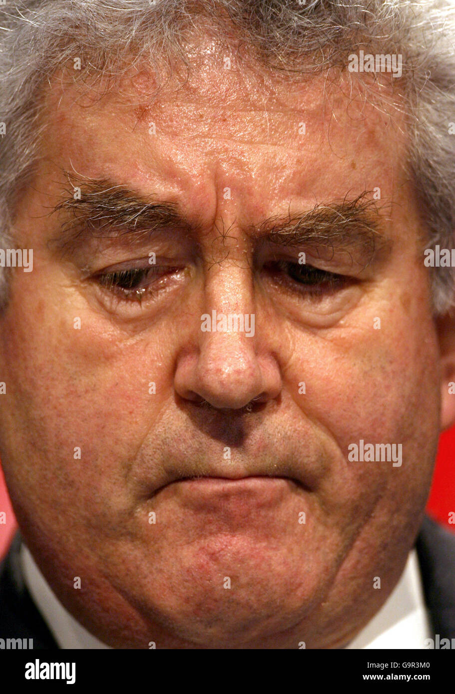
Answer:
<svg viewBox="0 0 455 694"><path fill-rule="evenodd" d="M58 648L24 584L21 537L0 565L0 638L33 638L33 648ZM416 543L425 602L434 634L455 638L455 535L426 516Z"/></svg>

